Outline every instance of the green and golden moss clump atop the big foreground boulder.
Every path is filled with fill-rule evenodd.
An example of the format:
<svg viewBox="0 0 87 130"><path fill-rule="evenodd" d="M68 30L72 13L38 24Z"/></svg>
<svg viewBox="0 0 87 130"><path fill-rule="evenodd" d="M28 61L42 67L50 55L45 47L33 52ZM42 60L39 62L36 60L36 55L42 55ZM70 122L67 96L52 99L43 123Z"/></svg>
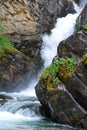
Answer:
<svg viewBox="0 0 87 130"><path fill-rule="evenodd" d="M43 71L40 82L47 90L56 89L62 82L65 83L75 70L75 57L60 58Z"/></svg>

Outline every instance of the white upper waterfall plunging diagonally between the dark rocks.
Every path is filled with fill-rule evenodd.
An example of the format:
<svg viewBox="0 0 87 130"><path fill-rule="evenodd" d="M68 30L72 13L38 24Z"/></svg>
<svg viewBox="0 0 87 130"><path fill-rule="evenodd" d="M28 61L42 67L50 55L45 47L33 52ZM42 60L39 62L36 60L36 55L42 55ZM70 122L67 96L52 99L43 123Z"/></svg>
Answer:
<svg viewBox="0 0 87 130"><path fill-rule="evenodd" d="M81 13L87 0L82 0L80 6L74 4L76 14L68 14L66 17L58 18L54 29L51 30L51 34L44 34L43 44L41 50L41 56L44 61L44 67L51 64L52 59L57 54L57 46L60 41L66 39L72 35L75 31L75 24L78 15Z"/></svg>

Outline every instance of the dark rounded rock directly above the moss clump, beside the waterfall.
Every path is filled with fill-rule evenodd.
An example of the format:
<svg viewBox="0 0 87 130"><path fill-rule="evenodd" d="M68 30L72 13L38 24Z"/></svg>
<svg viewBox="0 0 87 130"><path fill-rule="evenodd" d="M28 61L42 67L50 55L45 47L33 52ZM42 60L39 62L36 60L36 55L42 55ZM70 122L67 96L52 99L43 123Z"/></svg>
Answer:
<svg viewBox="0 0 87 130"><path fill-rule="evenodd" d="M80 31L62 41L58 46L57 54L59 57L75 55L77 59L81 59L86 52L87 34Z"/></svg>

